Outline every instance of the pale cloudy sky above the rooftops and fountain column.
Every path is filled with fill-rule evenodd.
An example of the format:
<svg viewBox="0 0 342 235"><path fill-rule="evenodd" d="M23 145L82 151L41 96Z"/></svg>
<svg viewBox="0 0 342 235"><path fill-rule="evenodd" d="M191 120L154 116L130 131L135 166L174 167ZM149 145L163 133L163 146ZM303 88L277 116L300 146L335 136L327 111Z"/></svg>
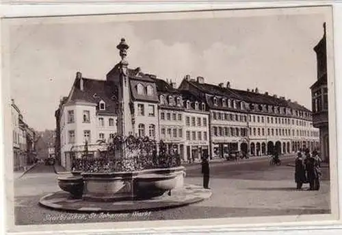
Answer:
<svg viewBox="0 0 342 235"><path fill-rule="evenodd" d="M172 79L187 74L232 88L259 88L311 109L317 79L313 47L324 15L271 15L164 21L44 23L10 26L10 92L27 124L55 129L55 110L77 71L105 79L126 38L129 67Z"/></svg>

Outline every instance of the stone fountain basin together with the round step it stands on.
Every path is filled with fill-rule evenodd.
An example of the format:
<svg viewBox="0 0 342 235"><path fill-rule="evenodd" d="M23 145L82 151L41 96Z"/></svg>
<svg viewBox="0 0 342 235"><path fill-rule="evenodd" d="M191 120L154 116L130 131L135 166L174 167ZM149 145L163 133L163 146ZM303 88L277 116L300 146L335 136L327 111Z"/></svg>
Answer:
<svg viewBox="0 0 342 235"><path fill-rule="evenodd" d="M211 190L184 184L183 166L117 173L74 172L58 177L63 191L40 205L78 212L133 212L184 206L211 197Z"/></svg>

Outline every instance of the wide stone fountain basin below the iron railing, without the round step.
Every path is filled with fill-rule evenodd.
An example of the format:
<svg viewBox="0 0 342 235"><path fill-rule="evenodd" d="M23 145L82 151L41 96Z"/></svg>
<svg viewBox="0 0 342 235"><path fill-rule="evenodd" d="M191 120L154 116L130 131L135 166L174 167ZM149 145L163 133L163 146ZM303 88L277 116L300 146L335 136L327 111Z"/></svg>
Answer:
<svg viewBox="0 0 342 235"><path fill-rule="evenodd" d="M184 177L184 166L109 173L78 171L59 177L58 184L74 197L88 201L122 201L159 197L183 188Z"/></svg>

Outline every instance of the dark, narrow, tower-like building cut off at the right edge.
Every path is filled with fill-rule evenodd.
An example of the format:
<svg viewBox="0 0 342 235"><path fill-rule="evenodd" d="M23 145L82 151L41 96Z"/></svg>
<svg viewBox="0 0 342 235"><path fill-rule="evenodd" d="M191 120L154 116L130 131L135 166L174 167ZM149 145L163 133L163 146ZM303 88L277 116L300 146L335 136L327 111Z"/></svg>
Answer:
<svg viewBox="0 0 342 235"><path fill-rule="evenodd" d="M313 101L313 126L319 128L319 146L321 158L329 161L329 128L328 128L328 83L326 59L326 23L324 36L314 47L317 58L317 81L311 86Z"/></svg>

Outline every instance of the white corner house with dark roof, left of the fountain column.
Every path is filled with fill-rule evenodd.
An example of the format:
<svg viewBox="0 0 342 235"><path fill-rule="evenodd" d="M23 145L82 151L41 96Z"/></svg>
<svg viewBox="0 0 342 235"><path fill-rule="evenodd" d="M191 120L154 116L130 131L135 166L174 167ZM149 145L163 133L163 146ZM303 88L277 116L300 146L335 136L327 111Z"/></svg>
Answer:
<svg viewBox="0 0 342 235"><path fill-rule="evenodd" d="M62 166L70 169L85 143L90 154L97 154L101 148L96 143L116 134L116 90L113 82L88 79L77 72L70 94L55 112L57 162Z"/></svg>

